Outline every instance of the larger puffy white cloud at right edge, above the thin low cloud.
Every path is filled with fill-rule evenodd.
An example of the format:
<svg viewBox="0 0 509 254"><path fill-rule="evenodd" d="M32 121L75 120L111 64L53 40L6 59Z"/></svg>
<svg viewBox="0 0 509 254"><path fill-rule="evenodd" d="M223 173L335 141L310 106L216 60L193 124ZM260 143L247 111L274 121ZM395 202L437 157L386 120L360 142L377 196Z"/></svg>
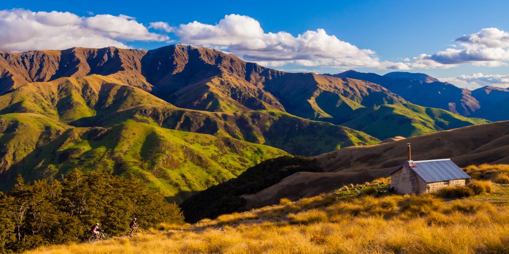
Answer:
<svg viewBox="0 0 509 254"><path fill-rule="evenodd" d="M497 67L509 61L509 33L498 28L484 28L455 40L455 46L432 55L414 57L413 68L450 68L461 63Z"/></svg>

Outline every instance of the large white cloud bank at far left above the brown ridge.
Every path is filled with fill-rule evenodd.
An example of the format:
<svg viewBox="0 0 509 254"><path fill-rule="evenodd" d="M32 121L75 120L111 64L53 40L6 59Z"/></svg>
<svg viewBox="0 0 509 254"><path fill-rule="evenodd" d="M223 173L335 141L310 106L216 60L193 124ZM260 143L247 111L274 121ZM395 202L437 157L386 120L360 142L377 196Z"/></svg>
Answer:
<svg viewBox="0 0 509 254"><path fill-rule="evenodd" d="M126 15L80 17L70 12L0 11L0 49L10 51L71 47L128 48L126 41L167 41Z"/></svg>

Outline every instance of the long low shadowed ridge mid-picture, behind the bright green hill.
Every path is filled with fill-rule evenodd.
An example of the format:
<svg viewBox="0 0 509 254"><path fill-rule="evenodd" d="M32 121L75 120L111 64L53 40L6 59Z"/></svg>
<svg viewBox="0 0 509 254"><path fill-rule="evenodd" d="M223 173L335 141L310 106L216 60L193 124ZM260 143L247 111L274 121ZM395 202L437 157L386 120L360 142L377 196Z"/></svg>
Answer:
<svg viewBox="0 0 509 254"><path fill-rule="evenodd" d="M231 137L313 156L355 145L380 142L363 132L328 122L312 121L278 111L216 113L168 106L140 106L96 117L83 118L77 126L108 126L126 119L167 129Z"/></svg>

